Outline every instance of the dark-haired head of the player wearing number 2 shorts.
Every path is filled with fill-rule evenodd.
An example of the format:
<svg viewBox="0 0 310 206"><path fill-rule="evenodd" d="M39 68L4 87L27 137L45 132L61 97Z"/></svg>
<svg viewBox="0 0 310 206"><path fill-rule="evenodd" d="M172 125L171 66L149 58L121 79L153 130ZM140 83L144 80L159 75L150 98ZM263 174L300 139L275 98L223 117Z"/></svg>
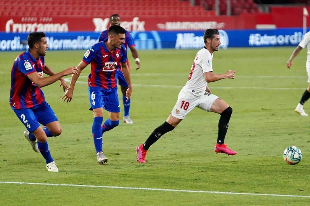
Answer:
<svg viewBox="0 0 310 206"><path fill-rule="evenodd" d="M27 41L30 50L36 51L39 56L45 56L48 45L44 32L31 32Z"/></svg>

